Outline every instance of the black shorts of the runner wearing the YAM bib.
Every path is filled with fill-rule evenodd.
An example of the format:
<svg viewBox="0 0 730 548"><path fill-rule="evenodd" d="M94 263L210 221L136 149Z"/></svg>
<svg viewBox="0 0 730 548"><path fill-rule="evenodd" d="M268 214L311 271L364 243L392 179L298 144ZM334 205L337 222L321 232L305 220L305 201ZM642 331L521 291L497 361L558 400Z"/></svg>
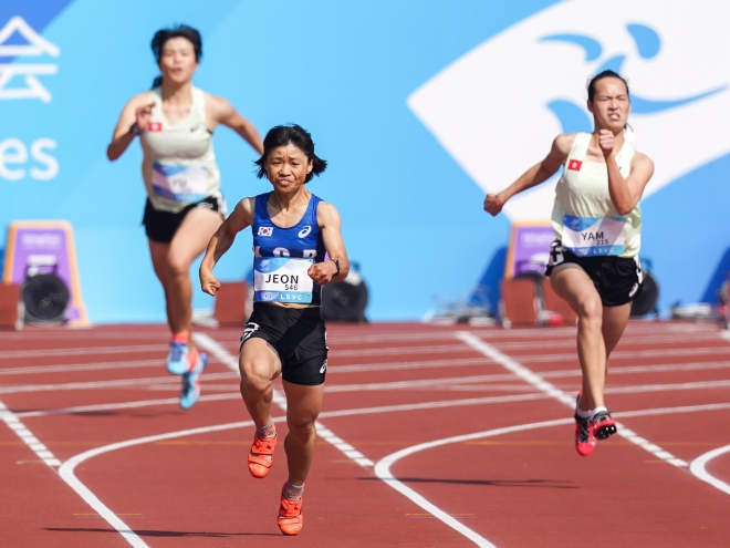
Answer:
<svg viewBox="0 0 730 548"><path fill-rule="evenodd" d="M588 275L604 307L620 307L630 302L644 281L638 257L578 257L555 240L551 246L545 276L565 263L577 265Z"/></svg>

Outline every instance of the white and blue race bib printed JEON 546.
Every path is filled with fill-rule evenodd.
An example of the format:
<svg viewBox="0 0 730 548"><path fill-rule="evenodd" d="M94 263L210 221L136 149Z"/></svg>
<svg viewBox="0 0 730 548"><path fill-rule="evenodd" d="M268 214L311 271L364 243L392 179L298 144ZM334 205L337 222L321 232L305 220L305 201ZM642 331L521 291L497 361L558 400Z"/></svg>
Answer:
<svg viewBox="0 0 730 548"><path fill-rule="evenodd" d="M314 259L257 257L253 261L255 302L310 304L314 281L306 273Z"/></svg>

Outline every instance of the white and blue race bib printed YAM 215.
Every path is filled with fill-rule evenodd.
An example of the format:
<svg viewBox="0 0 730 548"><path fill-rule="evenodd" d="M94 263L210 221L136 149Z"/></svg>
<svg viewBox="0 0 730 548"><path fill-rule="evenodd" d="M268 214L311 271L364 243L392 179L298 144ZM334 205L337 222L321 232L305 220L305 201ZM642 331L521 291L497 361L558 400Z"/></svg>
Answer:
<svg viewBox="0 0 730 548"><path fill-rule="evenodd" d="M563 247L580 257L624 252L624 219L620 217L563 218Z"/></svg>

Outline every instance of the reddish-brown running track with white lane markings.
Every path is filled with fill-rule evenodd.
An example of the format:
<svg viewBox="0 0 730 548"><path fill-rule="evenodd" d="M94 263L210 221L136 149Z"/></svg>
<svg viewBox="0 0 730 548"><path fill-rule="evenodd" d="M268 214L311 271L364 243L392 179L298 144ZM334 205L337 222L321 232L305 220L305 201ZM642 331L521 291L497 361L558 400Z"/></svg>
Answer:
<svg viewBox="0 0 730 548"><path fill-rule="evenodd" d="M623 436L588 458L574 328L328 333L299 537L275 524L283 451L263 480L247 468L239 330L199 333L213 358L188 412L163 325L0 333L0 546L730 546L730 340L715 325L629 324L607 389Z"/></svg>

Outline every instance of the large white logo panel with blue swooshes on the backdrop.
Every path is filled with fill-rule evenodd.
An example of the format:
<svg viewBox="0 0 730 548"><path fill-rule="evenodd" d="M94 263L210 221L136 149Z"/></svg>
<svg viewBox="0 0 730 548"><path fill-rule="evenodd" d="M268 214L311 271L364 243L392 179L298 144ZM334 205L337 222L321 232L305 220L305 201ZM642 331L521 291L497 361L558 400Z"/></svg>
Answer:
<svg viewBox="0 0 730 548"><path fill-rule="evenodd" d="M559 133L593 131L585 86L605 69L628 79L637 149L656 166L645 197L730 152L718 123L730 120L730 32L713 0L561 2L451 63L408 106L482 190L499 192ZM522 193L504 213L550 218L554 188Z"/></svg>

